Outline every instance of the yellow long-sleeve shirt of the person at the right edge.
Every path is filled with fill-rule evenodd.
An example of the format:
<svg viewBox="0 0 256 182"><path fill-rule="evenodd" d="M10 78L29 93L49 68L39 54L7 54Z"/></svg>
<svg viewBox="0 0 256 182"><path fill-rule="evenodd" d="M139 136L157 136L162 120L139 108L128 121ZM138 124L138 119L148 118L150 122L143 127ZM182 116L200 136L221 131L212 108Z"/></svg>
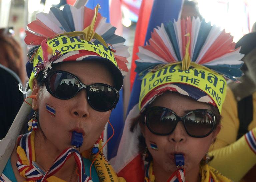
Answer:
<svg viewBox="0 0 256 182"><path fill-rule="evenodd" d="M253 108L256 108L256 92L252 98ZM256 164L256 154L249 147L245 135L236 141L239 129L237 101L229 88L221 115L222 128L210 148L210 155L214 156L210 165L234 182L238 182ZM248 126L248 131L250 130L256 136L256 111L253 112L253 121Z"/></svg>

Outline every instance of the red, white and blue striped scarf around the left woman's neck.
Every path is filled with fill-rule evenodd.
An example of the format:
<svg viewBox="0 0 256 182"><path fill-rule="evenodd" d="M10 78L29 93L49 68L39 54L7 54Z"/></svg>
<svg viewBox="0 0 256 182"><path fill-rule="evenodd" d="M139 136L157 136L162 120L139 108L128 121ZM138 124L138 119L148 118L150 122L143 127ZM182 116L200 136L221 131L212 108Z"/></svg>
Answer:
<svg viewBox="0 0 256 182"><path fill-rule="evenodd" d="M71 157L74 156L76 165L78 167L79 173L79 182L92 182L91 178L85 174L83 159L80 153L74 148L67 148L56 158L53 165L46 172L42 171L37 167L35 158L35 148L34 148L34 138L35 132L32 131L23 136L20 136L18 139L18 161L16 166L21 176L26 178L26 181L29 182L63 182L55 176L53 176L60 168L65 164L65 162Z"/></svg>

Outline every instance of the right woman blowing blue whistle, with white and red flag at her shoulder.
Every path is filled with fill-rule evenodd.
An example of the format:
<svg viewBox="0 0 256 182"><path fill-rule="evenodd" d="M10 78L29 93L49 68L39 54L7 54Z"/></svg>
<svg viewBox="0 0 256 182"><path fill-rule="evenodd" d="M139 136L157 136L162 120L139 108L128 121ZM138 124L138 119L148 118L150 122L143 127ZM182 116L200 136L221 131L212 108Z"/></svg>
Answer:
<svg viewBox="0 0 256 182"><path fill-rule="evenodd" d="M208 150L221 129L226 79L241 76L243 55L229 34L190 17L155 28L148 43L114 169L133 182L230 182L207 164Z"/></svg>

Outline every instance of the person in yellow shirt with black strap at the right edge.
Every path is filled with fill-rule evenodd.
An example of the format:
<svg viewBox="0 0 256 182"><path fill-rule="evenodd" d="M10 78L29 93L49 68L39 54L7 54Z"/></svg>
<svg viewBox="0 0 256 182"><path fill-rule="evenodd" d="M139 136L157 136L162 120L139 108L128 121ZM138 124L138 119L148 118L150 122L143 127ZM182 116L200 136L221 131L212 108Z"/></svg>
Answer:
<svg viewBox="0 0 256 182"><path fill-rule="evenodd" d="M230 88L227 89L221 114L222 129L216 142L210 148L210 154L214 155L210 164L235 182L240 181L256 164L255 41L256 32L252 32L244 35L236 43L236 47L242 46L240 53L245 54L242 59L245 62L242 67L244 75L239 78L241 83L229 83ZM238 107L239 101L243 99L250 100ZM238 114L238 109L243 110L243 115ZM241 113L241 111L239 112ZM249 142L250 138L251 142ZM252 168L243 181L253 181L255 170L255 167Z"/></svg>

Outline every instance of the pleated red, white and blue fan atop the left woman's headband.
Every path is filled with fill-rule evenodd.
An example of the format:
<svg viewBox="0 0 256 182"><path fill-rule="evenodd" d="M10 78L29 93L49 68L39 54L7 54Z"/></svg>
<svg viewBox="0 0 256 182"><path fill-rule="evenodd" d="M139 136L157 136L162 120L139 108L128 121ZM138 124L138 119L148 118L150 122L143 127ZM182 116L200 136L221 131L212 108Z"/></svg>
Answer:
<svg viewBox="0 0 256 182"><path fill-rule="evenodd" d="M100 6L97 5L99 8ZM95 18L95 10L87 7L79 9L66 4L63 10L52 7L49 13L38 13L36 20L27 25L26 37L24 41L29 46L41 45L45 39L51 39L59 34L68 32L81 32L91 25ZM127 57L130 56L128 47L124 46L125 39L115 35L116 28L110 23L106 23L106 18L97 14L96 21L93 26L93 32L100 35L110 48L114 48L115 59L120 70L128 71L126 64ZM89 36L89 35L88 35ZM96 39L87 40L101 44Z"/></svg>

